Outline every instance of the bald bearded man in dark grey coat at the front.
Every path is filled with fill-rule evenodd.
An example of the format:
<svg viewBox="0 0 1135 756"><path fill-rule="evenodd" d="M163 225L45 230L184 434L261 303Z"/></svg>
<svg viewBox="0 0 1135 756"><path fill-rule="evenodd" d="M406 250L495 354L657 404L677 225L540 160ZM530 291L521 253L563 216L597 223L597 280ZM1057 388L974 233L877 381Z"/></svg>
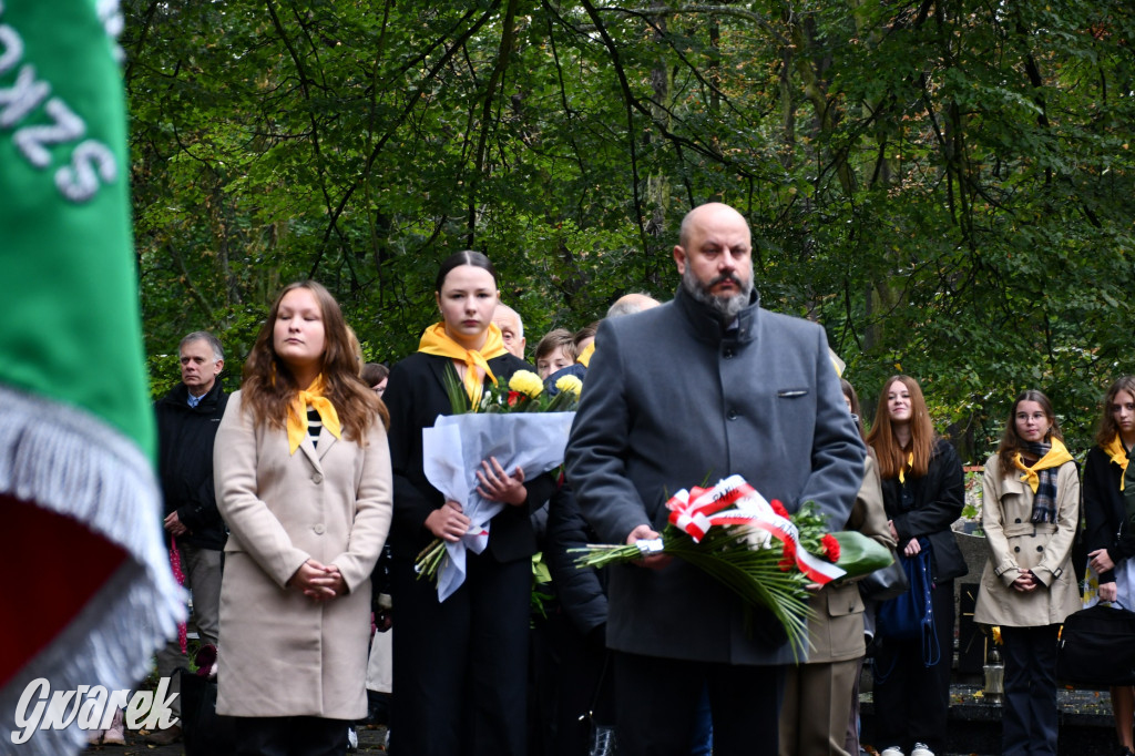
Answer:
<svg viewBox="0 0 1135 756"><path fill-rule="evenodd" d="M683 219L674 300L605 320L569 442L568 478L600 538L657 537L666 498L741 474L790 511L838 529L863 477L822 327L763 310L745 218L711 203ZM776 754L791 650L768 613L751 623L726 588L680 560L612 569L620 753L688 753L709 691L714 754Z"/></svg>

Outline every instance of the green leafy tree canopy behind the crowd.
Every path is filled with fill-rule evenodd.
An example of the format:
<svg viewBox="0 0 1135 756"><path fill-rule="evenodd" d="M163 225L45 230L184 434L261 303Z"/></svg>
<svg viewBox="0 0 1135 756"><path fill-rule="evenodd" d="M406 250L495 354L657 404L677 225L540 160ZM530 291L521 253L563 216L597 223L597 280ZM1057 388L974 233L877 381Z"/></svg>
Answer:
<svg viewBox="0 0 1135 756"><path fill-rule="evenodd" d="M918 377L969 461L1027 387L1083 453L1135 371L1126 0L125 6L152 354L209 328L236 366L310 276L398 359L465 247L535 343L669 299L720 200L764 304L823 324L868 406Z"/></svg>

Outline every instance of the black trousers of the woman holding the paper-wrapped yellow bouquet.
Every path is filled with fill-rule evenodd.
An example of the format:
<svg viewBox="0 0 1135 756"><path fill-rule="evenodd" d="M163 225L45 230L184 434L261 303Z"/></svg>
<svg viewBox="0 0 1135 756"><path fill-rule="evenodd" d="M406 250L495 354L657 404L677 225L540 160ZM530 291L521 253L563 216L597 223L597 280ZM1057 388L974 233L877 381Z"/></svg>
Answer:
<svg viewBox="0 0 1135 756"><path fill-rule="evenodd" d="M394 560L397 756L526 753L531 561L470 552L465 566L465 582L438 603L432 581Z"/></svg>

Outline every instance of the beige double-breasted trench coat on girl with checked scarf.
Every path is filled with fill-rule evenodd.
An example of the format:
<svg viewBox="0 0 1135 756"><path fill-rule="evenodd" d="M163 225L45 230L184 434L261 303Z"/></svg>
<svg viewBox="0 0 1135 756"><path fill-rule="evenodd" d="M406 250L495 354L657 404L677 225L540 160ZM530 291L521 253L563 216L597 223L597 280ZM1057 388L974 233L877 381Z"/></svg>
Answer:
<svg viewBox="0 0 1135 756"><path fill-rule="evenodd" d="M1079 521L1079 474L1074 462L1057 471L1057 522L1033 524L1033 489L1011 470L1002 474L997 454L982 480L982 528L990 557L982 572L974 621L1033 628L1059 624L1079 608L1071 546ZM1012 582L1032 570L1044 583L1022 594Z"/></svg>

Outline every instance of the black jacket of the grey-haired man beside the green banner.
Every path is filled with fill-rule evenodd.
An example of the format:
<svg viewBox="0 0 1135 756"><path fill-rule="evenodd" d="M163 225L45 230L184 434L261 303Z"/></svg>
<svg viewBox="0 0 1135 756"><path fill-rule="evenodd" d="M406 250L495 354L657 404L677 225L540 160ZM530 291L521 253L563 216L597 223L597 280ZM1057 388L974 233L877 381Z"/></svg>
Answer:
<svg viewBox="0 0 1135 756"><path fill-rule="evenodd" d="M178 537L178 543L221 549L226 535L213 492L212 445L228 394L218 380L195 408L190 406L187 397L185 384L178 384L153 408L158 418L158 474L166 515L176 510L178 519L190 529L188 535Z"/></svg>

